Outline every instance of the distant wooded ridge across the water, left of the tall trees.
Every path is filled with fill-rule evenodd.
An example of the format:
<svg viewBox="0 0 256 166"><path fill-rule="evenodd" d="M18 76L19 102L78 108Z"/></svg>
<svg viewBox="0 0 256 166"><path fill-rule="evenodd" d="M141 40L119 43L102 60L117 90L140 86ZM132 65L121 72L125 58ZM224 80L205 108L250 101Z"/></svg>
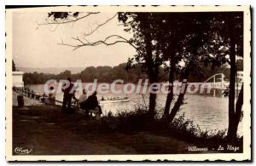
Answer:
<svg viewBox="0 0 256 166"><path fill-rule="evenodd" d="M47 74L38 72L26 72L23 76L23 81L28 84L42 84L49 79L67 79L71 77L73 81L80 79L83 83L91 83L97 79L98 83L112 83L116 79L122 79L125 83L136 83L140 78L147 78L145 72L141 70L140 66L133 66L131 69L125 69L126 64L122 63L119 66L89 66L82 72L74 73L66 70L59 74ZM162 80L166 79L164 68L160 70Z"/></svg>

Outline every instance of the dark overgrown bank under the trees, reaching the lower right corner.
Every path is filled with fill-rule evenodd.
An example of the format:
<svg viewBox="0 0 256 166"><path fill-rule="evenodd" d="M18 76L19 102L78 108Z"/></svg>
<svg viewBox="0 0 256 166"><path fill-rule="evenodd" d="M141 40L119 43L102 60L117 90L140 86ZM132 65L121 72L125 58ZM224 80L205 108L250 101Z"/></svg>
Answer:
<svg viewBox="0 0 256 166"><path fill-rule="evenodd" d="M243 138L237 137L235 142L226 140L226 130L202 130L198 125L189 119L184 118L184 114L174 118L172 123L166 123L161 118L151 120L148 112L143 108L137 108L136 112L119 112L117 116L111 113L107 117L102 117L102 128L108 132L148 132L152 135L160 135L168 138L175 138L197 147L207 147L211 152L218 151L219 147L224 147L224 151L233 152L230 146L239 147L236 152L242 152Z"/></svg>

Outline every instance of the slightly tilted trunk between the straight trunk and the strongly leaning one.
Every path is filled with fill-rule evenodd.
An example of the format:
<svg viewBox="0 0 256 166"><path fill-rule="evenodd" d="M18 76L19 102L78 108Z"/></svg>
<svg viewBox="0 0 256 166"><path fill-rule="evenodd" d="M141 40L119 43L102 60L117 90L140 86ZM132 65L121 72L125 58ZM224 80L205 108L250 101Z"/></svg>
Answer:
<svg viewBox="0 0 256 166"><path fill-rule="evenodd" d="M174 70L173 66L171 65L171 69L169 72L169 87L168 87L168 94L166 97L166 106L165 106L165 112L163 117L167 117L170 113L170 108L172 104L172 99L173 99L173 77L174 77Z"/></svg>

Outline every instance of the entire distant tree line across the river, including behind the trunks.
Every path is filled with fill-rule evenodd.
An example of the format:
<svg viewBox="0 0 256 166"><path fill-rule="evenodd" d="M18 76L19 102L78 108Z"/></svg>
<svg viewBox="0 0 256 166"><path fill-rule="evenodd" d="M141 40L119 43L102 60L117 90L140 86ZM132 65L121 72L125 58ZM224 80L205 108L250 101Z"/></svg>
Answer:
<svg viewBox="0 0 256 166"><path fill-rule="evenodd" d="M242 60L237 60L238 71L242 71ZM227 65L215 66L213 69L211 66L204 66L203 72L200 74L197 71L192 71L193 74L189 76L190 82L204 82L208 77L218 72L223 72L225 79L229 79L230 68ZM126 69L126 64L122 63L119 66L89 66L86 67L82 72L72 74L66 70L59 74L48 74L38 72L25 72L23 81L26 85L30 84L43 84L49 79L66 79L71 77L73 81L81 79L83 83L93 82L97 79L98 83L112 83L116 79L122 79L125 83L137 83L139 79L146 79L147 74L141 69L139 65L133 66L131 69ZM179 76L177 76L178 79ZM160 80L166 82L168 80L167 71L164 67L160 67Z"/></svg>

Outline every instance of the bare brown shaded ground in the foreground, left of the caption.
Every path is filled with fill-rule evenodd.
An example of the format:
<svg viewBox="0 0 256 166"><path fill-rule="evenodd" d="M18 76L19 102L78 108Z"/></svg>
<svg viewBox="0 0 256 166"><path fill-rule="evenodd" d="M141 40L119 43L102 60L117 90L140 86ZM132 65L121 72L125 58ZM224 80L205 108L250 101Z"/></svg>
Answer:
<svg viewBox="0 0 256 166"><path fill-rule="evenodd" d="M14 150L31 148L33 155L185 153L190 145L148 132L103 133L99 121L55 106L13 108Z"/></svg>

